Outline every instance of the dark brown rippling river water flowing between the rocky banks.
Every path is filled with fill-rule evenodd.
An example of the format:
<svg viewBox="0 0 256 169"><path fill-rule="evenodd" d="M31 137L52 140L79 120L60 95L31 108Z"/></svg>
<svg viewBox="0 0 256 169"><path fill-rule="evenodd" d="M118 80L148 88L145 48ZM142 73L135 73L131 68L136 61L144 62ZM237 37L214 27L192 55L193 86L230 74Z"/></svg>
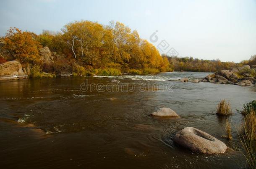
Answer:
<svg viewBox="0 0 256 169"><path fill-rule="evenodd" d="M256 99L256 87L168 81L207 74L1 81L1 168L243 168L236 109ZM231 141L222 137L225 117L215 114L221 99L234 112ZM180 118L149 116L161 107ZM217 155L183 149L172 139L185 127L203 130L230 149Z"/></svg>

